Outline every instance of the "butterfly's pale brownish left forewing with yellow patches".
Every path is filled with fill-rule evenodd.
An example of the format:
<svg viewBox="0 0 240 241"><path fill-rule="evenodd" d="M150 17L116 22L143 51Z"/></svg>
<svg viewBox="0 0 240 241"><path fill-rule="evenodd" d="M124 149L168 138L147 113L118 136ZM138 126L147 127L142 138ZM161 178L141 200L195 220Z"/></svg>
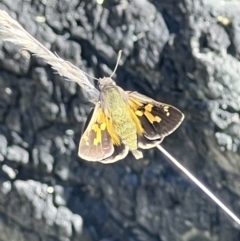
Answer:
<svg viewBox="0 0 240 241"><path fill-rule="evenodd" d="M80 140L78 155L87 161L102 161L114 152L111 137L107 132L104 119L99 120L102 114L98 102L87 118L83 135Z"/></svg>

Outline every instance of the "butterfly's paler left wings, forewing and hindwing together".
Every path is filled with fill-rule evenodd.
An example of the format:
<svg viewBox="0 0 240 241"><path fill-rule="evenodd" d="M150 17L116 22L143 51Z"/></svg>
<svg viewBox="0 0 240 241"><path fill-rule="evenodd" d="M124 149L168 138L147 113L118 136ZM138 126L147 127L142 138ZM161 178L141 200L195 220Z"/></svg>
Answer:
<svg viewBox="0 0 240 241"><path fill-rule="evenodd" d="M98 102L88 115L80 140L78 155L87 161L113 163L123 159L129 149L120 143L113 145L107 121Z"/></svg>

